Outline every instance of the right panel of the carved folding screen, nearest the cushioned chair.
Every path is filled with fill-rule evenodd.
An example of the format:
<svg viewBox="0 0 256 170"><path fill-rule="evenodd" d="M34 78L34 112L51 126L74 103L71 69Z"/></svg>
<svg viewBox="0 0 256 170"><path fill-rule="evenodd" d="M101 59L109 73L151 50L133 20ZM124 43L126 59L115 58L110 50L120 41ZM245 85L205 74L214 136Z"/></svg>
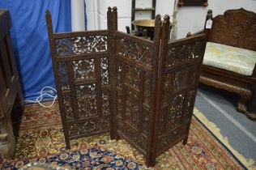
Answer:
<svg viewBox="0 0 256 170"><path fill-rule="evenodd" d="M157 151L186 138L194 108L204 35L169 43L164 49Z"/></svg>

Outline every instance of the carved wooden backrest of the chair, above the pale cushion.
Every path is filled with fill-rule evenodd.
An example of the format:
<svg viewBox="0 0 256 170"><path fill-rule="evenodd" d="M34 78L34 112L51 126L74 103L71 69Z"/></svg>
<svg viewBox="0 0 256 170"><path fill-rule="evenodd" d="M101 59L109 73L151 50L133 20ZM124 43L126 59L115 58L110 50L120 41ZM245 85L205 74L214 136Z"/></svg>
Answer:
<svg viewBox="0 0 256 170"><path fill-rule="evenodd" d="M239 10L228 10L213 19L209 40L242 49L256 51L256 14Z"/></svg>

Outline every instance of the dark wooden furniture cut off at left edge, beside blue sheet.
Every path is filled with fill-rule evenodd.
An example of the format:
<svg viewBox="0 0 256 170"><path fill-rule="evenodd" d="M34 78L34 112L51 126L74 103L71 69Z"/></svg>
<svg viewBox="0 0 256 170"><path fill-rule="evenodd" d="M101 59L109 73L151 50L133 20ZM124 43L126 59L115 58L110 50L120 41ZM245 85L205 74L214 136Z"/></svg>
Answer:
<svg viewBox="0 0 256 170"><path fill-rule="evenodd" d="M0 10L0 154L6 159L10 159L15 152L12 110L19 108L17 114L23 110L23 95L11 45L10 28L10 13Z"/></svg>

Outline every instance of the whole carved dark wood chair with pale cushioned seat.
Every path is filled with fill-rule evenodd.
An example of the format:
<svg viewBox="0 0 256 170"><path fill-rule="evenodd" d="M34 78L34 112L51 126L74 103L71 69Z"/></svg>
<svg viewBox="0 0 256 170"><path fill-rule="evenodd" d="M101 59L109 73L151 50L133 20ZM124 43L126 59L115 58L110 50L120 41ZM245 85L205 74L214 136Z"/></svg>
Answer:
<svg viewBox="0 0 256 170"><path fill-rule="evenodd" d="M237 110L255 120L256 113L248 113L245 104L256 91L256 14L241 8L212 18L209 10L204 32L207 48L200 82L237 93Z"/></svg>

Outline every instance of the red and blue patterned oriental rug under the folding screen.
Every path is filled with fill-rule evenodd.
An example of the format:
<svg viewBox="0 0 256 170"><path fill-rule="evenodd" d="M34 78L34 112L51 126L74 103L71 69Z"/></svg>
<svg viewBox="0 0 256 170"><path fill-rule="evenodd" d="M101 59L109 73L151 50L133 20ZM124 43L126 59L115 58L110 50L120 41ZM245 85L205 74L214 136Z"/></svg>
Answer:
<svg viewBox="0 0 256 170"><path fill-rule="evenodd" d="M87 158L91 158L89 160L89 162L91 161L90 164L79 164L71 161L71 165L70 160L68 160L68 167L85 168L87 166L88 169L91 169L104 164L104 169L148 169L144 165L143 155L140 155L124 140L118 142L110 140L109 134L73 140L71 141L71 148L70 151L65 150L58 104L55 104L53 108L42 108L38 104L28 104L25 107L19 128L15 159L0 158L2 164L0 168L28 167L28 164L40 163L41 159L47 160L44 164L54 163L62 168L69 156L58 162L61 155L79 155L80 159L83 156L88 156L83 155L82 152L85 151L85 154L88 154L91 151L96 151L96 153L99 152L102 155L100 159L95 161L91 156L88 156ZM79 161L79 159L74 161ZM75 164L75 167L73 164ZM156 167L153 169L245 168L197 119L193 118L187 145L183 146L182 142L179 142L175 147L164 152L156 159Z"/></svg>

